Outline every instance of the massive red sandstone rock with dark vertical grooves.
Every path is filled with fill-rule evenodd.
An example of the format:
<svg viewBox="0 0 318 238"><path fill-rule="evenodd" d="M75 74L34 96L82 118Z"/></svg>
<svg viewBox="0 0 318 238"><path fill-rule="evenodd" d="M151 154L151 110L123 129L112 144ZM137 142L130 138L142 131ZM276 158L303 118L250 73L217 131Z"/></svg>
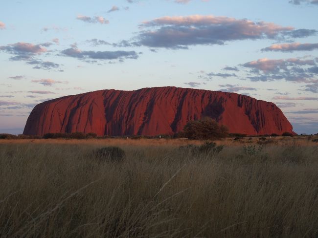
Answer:
<svg viewBox="0 0 318 238"><path fill-rule="evenodd" d="M230 133L263 135L293 130L282 111L270 102L237 93L153 87L100 90L41 103L29 115L23 134L173 134L188 121L204 116L226 125Z"/></svg>

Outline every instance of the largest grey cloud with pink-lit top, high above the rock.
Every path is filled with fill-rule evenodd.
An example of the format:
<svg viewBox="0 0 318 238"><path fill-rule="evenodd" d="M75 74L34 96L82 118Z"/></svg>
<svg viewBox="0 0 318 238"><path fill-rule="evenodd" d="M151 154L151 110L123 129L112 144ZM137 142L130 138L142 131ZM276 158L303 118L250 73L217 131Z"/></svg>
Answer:
<svg viewBox="0 0 318 238"><path fill-rule="evenodd" d="M316 34L316 30L295 30L272 22L252 22L216 16L161 17L142 22L146 28L136 36L137 44L149 47L187 49L189 45L224 44L229 41L285 39ZM150 29L148 29L150 28Z"/></svg>

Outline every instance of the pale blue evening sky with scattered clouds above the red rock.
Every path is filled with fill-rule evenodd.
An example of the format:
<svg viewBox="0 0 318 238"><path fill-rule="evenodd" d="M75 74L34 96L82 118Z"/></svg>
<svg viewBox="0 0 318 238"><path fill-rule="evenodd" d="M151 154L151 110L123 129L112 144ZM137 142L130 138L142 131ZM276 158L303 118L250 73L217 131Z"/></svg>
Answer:
<svg viewBox="0 0 318 238"><path fill-rule="evenodd" d="M275 103L318 133L318 0L1 0L0 133L101 89L190 87Z"/></svg>

